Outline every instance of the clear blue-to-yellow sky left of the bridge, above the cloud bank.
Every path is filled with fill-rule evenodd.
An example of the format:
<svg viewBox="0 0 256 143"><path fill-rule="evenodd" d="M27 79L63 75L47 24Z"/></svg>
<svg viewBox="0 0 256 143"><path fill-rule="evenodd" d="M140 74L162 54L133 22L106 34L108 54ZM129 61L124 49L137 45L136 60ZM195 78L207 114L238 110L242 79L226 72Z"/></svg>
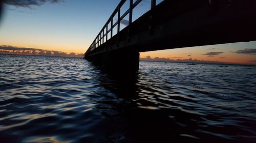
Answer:
<svg viewBox="0 0 256 143"><path fill-rule="evenodd" d="M83 52L118 3L114 0L65 1L31 9L7 5L0 42L11 44L16 40L17 46Z"/></svg>

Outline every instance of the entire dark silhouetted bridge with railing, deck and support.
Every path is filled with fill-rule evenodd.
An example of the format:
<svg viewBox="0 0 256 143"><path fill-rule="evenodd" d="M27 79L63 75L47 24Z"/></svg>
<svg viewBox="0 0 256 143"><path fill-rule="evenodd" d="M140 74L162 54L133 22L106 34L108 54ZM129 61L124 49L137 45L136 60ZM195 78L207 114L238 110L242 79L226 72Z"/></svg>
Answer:
<svg viewBox="0 0 256 143"><path fill-rule="evenodd" d="M126 2L121 0L82 59L110 69L137 70L139 52L256 40L255 0L165 0L157 6L151 0L151 10L132 22L141 1L127 1L130 7L121 15ZM120 31L125 16L129 25Z"/></svg>

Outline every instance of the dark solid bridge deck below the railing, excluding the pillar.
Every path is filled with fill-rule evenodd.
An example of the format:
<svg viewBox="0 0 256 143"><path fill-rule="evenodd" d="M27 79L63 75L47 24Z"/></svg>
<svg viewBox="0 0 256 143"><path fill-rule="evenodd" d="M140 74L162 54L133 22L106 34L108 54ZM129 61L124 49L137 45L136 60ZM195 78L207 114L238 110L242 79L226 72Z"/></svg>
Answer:
<svg viewBox="0 0 256 143"><path fill-rule="evenodd" d="M136 52L256 40L256 3L163 1L85 56L119 48Z"/></svg>

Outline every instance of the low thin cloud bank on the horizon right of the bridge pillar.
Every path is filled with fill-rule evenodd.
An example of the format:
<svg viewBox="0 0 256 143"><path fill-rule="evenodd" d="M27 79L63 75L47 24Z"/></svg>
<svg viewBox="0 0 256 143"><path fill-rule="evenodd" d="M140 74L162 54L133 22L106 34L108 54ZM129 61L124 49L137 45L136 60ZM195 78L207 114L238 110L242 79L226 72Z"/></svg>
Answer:
<svg viewBox="0 0 256 143"><path fill-rule="evenodd" d="M155 61L155 62L181 62L181 63L215 63L215 64L224 64L223 62L215 62L215 61L200 61L197 59L169 59L169 58L151 58L151 56L146 56L145 58L140 58L141 61Z"/></svg>

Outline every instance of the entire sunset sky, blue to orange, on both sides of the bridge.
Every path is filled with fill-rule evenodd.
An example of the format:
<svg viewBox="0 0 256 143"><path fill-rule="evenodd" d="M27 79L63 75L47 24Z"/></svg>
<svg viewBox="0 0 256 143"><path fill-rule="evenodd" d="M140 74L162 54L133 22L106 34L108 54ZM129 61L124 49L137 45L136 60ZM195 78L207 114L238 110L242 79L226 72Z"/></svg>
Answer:
<svg viewBox="0 0 256 143"><path fill-rule="evenodd" d="M119 2L118 0L7 1L0 23L0 46L84 53ZM125 11L125 8L126 5L121 11ZM134 10L133 20L149 9L150 0L143 0ZM256 65L256 41L140 53L141 58L146 58L148 55L152 59L191 58Z"/></svg>

